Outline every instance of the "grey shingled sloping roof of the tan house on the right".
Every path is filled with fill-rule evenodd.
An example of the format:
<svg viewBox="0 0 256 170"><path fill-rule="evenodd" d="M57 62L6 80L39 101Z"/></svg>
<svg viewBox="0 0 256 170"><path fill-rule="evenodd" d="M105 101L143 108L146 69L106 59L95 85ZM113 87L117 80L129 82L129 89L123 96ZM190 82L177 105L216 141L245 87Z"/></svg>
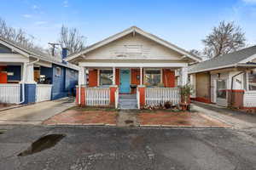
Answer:
<svg viewBox="0 0 256 170"><path fill-rule="evenodd" d="M256 59L256 46L249 48L243 48L239 51L220 55L218 57L208 59L196 65L189 66L189 73L212 71L218 69L224 69L234 67L241 64L247 64L247 62Z"/></svg>

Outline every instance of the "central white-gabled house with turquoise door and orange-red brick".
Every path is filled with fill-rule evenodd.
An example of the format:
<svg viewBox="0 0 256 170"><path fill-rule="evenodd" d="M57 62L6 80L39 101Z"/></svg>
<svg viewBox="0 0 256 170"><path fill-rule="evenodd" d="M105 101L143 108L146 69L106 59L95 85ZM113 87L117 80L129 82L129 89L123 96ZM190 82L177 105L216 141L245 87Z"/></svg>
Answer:
<svg viewBox="0 0 256 170"><path fill-rule="evenodd" d="M176 87L187 83L188 65L201 61L136 26L96 42L66 60L80 67L79 105L117 106L119 94L137 94L137 99L133 96L138 107L167 100L179 104Z"/></svg>

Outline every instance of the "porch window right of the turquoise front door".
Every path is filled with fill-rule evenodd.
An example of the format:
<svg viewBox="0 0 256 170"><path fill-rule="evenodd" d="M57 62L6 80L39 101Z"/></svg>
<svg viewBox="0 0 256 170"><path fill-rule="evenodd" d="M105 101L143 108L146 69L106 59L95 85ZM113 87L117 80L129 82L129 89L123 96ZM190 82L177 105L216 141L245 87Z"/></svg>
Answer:
<svg viewBox="0 0 256 170"><path fill-rule="evenodd" d="M149 86L157 86L161 82L160 70L146 70L145 71L145 83Z"/></svg>

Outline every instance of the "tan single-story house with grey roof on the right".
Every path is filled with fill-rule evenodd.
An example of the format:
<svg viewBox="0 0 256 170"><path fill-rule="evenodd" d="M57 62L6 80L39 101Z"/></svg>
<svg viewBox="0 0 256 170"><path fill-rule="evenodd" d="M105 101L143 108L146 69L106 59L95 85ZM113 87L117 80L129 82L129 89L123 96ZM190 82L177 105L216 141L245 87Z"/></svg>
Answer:
<svg viewBox="0 0 256 170"><path fill-rule="evenodd" d="M236 108L256 107L256 46L189 66L192 99Z"/></svg>

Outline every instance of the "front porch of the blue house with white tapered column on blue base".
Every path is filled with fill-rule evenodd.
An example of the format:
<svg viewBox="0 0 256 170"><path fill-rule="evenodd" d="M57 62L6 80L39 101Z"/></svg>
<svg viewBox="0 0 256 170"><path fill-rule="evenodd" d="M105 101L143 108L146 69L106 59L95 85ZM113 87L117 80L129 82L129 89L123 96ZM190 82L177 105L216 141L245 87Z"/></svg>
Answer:
<svg viewBox="0 0 256 170"><path fill-rule="evenodd" d="M51 99L47 67L32 62L0 62L0 103L28 104Z"/></svg>

